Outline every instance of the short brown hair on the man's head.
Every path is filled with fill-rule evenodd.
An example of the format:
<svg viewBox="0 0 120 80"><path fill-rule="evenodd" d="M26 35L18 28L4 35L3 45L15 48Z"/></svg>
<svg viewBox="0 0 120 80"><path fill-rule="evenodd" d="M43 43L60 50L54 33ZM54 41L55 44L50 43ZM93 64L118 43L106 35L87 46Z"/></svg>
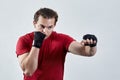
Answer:
<svg viewBox="0 0 120 80"><path fill-rule="evenodd" d="M42 16L44 18L55 18L55 24L58 21L58 14L56 11L49 9L49 8L40 8L35 14L34 14L34 21L37 22L39 16Z"/></svg>

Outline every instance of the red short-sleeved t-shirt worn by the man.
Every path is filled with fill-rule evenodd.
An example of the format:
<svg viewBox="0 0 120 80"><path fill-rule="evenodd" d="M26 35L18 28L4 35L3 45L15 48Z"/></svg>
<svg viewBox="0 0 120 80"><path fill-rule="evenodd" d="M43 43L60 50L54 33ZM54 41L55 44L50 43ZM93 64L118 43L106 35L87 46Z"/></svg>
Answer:
<svg viewBox="0 0 120 80"><path fill-rule="evenodd" d="M17 56L30 51L33 37L32 32L19 38ZM32 76L24 75L24 80L63 80L65 56L72 41L68 35L52 32L40 48L37 70Z"/></svg>

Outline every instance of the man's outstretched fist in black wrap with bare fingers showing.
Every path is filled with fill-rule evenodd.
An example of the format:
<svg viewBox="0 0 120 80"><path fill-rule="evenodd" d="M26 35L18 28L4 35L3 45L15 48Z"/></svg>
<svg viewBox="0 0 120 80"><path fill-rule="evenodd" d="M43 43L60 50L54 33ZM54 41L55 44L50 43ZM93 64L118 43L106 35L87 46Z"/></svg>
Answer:
<svg viewBox="0 0 120 80"><path fill-rule="evenodd" d="M86 34L83 36L83 39L86 40L85 46L95 47L97 45L97 38L95 35Z"/></svg>

